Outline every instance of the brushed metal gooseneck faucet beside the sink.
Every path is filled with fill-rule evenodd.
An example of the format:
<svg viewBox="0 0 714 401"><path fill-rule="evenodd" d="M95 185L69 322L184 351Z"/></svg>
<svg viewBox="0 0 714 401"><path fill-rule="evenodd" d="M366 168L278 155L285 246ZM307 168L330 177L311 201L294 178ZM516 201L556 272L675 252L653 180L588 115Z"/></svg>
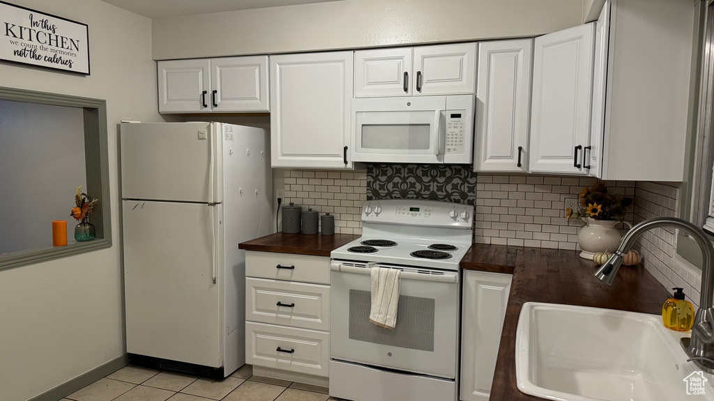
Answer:
<svg viewBox="0 0 714 401"><path fill-rule="evenodd" d="M600 266L595 272L595 277L603 283L612 284L615 274L618 273L623 258L630 252L630 248L635 245L635 240L640 238L645 231L659 227L672 227L685 231L694 238L702 250L702 287L700 288L699 309L694 316L692 327L692 337L684 337L680 340L687 355L693 358L693 362L703 370L714 373L714 308L712 300L714 298L714 248L704 231L680 218L660 217L650 218L638 225L635 225L623 238L620 248ZM691 359L690 359L691 360Z"/></svg>

